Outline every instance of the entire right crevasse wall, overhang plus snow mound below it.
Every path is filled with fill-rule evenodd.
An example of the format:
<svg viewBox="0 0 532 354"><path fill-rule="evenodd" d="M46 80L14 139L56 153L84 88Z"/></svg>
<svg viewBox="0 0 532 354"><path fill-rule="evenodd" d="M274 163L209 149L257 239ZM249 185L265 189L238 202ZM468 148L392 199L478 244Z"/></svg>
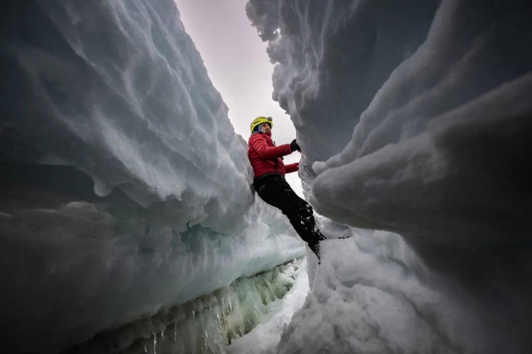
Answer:
<svg viewBox="0 0 532 354"><path fill-rule="evenodd" d="M325 242L280 352L532 350L531 7L247 4L315 210L402 235L322 220L353 243Z"/></svg>

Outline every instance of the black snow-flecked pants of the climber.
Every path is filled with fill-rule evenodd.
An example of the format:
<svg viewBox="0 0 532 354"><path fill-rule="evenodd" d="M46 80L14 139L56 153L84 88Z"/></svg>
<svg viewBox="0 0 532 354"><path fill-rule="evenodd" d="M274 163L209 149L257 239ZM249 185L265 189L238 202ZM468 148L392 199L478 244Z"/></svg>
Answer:
<svg viewBox="0 0 532 354"><path fill-rule="evenodd" d="M312 206L300 198L279 174L259 176L253 185L263 201L280 209L288 217L297 234L319 258L319 243L325 237L316 226Z"/></svg>

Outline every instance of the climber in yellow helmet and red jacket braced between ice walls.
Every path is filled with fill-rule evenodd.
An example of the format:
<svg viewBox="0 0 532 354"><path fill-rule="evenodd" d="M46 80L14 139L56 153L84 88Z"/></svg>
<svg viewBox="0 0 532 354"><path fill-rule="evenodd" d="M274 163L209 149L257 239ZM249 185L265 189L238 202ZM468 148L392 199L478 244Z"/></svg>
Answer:
<svg viewBox="0 0 532 354"><path fill-rule="evenodd" d="M273 119L257 117L251 122L251 136L247 156L255 179L253 186L263 201L280 209L288 217L297 234L305 241L320 261L320 241L325 239L316 226L312 207L300 198L285 180L285 174L299 169L299 163L286 165L282 157L301 152L294 139L290 144L276 146L271 140Z"/></svg>

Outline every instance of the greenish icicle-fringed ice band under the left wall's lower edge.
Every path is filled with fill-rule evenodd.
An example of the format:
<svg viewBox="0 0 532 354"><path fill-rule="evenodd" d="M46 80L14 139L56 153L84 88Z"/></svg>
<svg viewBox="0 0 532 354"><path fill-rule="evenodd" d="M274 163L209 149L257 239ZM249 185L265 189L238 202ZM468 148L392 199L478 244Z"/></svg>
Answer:
<svg viewBox="0 0 532 354"><path fill-rule="evenodd" d="M302 265L306 266L304 258L299 258L270 271L239 278L185 304L99 333L67 353L225 353L229 344L252 331L284 301L281 298L300 273L306 275ZM279 338L273 341L273 347L278 341Z"/></svg>

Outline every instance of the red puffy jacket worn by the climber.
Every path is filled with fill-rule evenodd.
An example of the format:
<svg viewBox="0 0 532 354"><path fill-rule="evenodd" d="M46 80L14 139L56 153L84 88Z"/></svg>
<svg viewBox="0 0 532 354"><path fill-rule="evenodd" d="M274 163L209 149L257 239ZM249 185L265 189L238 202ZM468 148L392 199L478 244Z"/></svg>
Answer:
<svg viewBox="0 0 532 354"><path fill-rule="evenodd" d="M292 153L290 144L275 146L271 140L271 133L253 133L247 143L247 157L250 159L255 178L277 172L281 176L295 172L299 169L299 163L286 165L282 157Z"/></svg>

